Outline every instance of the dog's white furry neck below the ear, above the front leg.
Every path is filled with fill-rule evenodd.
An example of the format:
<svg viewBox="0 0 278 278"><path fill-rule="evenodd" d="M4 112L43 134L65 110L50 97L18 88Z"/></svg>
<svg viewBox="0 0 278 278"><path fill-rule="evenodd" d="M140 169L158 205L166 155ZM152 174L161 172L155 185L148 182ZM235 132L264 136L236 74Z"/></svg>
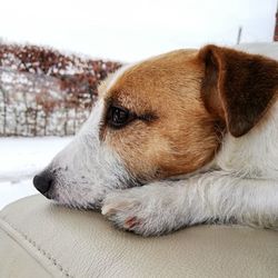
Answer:
<svg viewBox="0 0 278 278"><path fill-rule="evenodd" d="M235 138L227 133L215 162L237 176L278 179L278 101L247 135Z"/></svg>

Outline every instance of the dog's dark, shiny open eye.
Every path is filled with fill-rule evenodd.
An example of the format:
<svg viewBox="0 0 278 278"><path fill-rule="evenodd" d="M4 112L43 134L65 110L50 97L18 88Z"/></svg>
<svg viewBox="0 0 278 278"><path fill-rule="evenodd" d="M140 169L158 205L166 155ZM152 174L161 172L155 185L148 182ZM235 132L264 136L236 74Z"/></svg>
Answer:
<svg viewBox="0 0 278 278"><path fill-rule="evenodd" d="M132 113L122 107L111 106L108 110L108 123L113 128L126 126L132 118Z"/></svg>

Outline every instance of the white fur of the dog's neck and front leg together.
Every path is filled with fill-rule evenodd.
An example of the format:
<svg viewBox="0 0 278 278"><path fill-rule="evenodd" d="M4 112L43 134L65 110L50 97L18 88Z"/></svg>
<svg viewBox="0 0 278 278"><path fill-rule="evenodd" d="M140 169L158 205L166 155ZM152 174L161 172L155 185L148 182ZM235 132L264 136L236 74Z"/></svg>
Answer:
<svg viewBox="0 0 278 278"><path fill-rule="evenodd" d="M267 125L240 138L228 133L206 170L111 192L102 214L143 236L215 221L278 228L278 103Z"/></svg>

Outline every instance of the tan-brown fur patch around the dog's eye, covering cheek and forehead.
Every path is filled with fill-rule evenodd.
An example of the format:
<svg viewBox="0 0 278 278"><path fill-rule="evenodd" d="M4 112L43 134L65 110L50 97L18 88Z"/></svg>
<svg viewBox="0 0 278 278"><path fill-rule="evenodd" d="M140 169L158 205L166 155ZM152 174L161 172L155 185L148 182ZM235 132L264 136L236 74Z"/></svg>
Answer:
<svg viewBox="0 0 278 278"><path fill-rule="evenodd" d="M106 127L105 139L133 176L166 178L195 171L214 157L219 140L200 96L203 67L196 51L179 50L129 68L106 99L152 121Z"/></svg>

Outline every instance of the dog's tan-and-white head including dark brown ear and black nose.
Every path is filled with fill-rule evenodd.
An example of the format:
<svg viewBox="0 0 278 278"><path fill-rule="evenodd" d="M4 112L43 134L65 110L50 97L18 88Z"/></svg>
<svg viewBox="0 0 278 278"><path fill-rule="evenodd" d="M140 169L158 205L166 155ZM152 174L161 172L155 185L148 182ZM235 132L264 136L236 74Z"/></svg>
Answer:
<svg viewBox="0 0 278 278"><path fill-rule="evenodd" d="M222 135L244 136L260 121L277 80L276 61L215 46L122 68L34 186L58 202L95 208L116 188L199 170Z"/></svg>

